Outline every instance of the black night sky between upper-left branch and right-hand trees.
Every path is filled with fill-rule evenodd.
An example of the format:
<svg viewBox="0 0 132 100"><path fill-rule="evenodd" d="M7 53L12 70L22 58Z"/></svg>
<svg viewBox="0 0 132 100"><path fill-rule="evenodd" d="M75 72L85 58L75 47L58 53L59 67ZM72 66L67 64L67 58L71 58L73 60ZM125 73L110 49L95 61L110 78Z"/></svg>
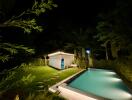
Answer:
<svg viewBox="0 0 132 100"><path fill-rule="evenodd" d="M57 0L58 8L53 10L51 16L58 22L70 22L80 26L96 24L99 12L106 12L115 6L112 0Z"/></svg>

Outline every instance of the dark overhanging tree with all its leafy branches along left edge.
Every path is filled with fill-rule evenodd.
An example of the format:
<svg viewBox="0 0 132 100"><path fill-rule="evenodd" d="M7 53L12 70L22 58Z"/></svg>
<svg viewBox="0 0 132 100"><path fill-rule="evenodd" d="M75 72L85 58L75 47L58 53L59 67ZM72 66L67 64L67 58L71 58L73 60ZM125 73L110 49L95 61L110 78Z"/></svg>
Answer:
<svg viewBox="0 0 132 100"><path fill-rule="evenodd" d="M44 26L40 26L36 19L39 18L40 14L45 13L46 10L57 7L51 0L34 2L30 0L31 6L23 8L18 7L19 3L17 0L0 1L0 62L8 61L18 54L29 55L35 53L33 46L29 46L29 43L26 43L33 41L32 35L27 33L32 33L33 31L41 32ZM26 2L23 1L21 3L24 4ZM24 40L26 40L25 43Z"/></svg>

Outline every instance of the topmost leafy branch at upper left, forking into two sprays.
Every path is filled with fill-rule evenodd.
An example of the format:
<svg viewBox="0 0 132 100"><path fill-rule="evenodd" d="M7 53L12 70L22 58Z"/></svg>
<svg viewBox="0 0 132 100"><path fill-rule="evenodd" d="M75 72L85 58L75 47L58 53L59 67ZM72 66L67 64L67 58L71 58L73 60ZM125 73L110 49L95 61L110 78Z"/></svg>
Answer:
<svg viewBox="0 0 132 100"><path fill-rule="evenodd" d="M44 13L46 10L51 10L53 7L57 7L57 5L54 4L51 0L48 0L48 2L44 2L42 0L40 3L38 1L35 1L31 9L22 12L18 16L11 17L9 20L0 24L0 27L19 27L27 33L31 33L32 30L41 32L42 27L37 25L35 19L23 19L22 17L29 14L35 14L39 16L41 13Z"/></svg>

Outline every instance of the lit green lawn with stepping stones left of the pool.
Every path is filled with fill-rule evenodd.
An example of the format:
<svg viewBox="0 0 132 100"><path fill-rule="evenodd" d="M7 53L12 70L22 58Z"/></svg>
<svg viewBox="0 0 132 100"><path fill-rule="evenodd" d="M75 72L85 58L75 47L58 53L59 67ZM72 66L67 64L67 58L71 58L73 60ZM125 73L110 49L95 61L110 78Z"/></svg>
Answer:
<svg viewBox="0 0 132 100"><path fill-rule="evenodd" d="M56 70L48 66L23 66L4 72L1 74L3 78L0 81L0 100L11 100L17 94L20 100L52 100L53 98L61 100L62 98L49 93L48 87L79 70L78 68Z"/></svg>

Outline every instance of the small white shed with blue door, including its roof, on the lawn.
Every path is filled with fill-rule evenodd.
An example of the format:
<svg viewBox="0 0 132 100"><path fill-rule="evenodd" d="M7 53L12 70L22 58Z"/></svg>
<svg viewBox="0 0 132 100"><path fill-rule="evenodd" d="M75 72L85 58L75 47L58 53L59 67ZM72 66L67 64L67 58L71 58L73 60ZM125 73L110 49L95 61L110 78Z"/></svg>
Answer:
<svg viewBox="0 0 132 100"><path fill-rule="evenodd" d="M74 61L74 54L60 51L48 54L48 56L49 65L57 69L65 69L67 66L70 66Z"/></svg>

